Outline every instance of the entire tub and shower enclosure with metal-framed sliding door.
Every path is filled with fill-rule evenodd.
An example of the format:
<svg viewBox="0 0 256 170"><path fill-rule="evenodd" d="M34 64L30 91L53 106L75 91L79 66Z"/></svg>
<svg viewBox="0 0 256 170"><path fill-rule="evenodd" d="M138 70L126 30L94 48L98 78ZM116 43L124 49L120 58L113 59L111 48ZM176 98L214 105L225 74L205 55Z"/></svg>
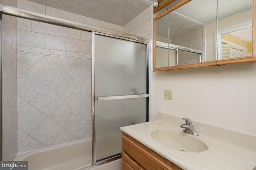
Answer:
<svg viewBox="0 0 256 170"><path fill-rule="evenodd" d="M148 121L148 41L0 10L1 160L82 170L120 158L119 128Z"/></svg>

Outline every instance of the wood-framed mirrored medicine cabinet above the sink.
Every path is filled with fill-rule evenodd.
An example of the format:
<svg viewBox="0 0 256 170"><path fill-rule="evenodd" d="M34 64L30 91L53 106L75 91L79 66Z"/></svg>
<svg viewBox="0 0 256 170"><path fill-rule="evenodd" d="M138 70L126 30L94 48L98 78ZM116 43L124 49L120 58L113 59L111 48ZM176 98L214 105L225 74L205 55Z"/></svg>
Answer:
<svg viewBox="0 0 256 170"><path fill-rule="evenodd" d="M156 16L153 70L256 61L252 2L182 0Z"/></svg>

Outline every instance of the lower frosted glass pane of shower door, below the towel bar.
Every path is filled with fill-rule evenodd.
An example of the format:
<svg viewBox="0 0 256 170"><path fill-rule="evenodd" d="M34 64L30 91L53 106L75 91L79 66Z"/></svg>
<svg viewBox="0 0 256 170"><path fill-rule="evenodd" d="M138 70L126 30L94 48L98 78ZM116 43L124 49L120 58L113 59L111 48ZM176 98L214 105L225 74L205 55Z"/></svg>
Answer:
<svg viewBox="0 0 256 170"><path fill-rule="evenodd" d="M146 98L95 102L96 160L122 152L120 127L146 121Z"/></svg>

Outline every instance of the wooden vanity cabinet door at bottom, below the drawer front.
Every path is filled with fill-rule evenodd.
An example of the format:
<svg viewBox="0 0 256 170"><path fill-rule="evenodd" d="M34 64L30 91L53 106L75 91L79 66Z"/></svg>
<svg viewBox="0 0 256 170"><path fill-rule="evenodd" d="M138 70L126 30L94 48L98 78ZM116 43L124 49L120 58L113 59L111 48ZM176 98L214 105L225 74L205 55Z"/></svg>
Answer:
<svg viewBox="0 0 256 170"><path fill-rule="evenodd" d="M125 152L122 152L122 170L143 170Z"/></svg>

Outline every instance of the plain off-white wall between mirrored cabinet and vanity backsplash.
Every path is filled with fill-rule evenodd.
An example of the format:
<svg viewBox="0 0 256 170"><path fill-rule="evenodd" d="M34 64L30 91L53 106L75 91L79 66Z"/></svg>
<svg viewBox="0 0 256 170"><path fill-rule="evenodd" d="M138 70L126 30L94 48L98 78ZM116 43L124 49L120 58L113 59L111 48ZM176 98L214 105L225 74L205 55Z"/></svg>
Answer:
<svg viewBox="0 0 256 170"><path fill-rule="evenodd" d="M256 135L255 87L255 62L154 72L154 119L163 111Z"/></svg>

